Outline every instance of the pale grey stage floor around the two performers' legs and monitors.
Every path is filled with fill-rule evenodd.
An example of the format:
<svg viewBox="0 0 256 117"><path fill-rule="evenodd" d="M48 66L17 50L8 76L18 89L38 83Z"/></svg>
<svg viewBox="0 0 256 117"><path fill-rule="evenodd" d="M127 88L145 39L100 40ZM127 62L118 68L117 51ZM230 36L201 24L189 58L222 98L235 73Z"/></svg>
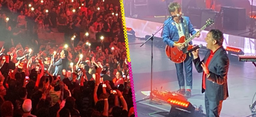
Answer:
<svg viewBox="0 0 256 117"><path fill-rule="evenodd" d="M129 49L132 64L136 101L146 97L150 90L150 42L139 47L144 40L129 39ZM204 55L200 54L200 58ZM153 47L153 89L162 91L178 90L178 80L175 64L167 59L164 48ZM237 58L230 58L228 71L229 98L223 101L221 117L245 117L251 115L249 105L256 92L256 68L251 62L238 62ZM185 73L185 71L184 71ZM184 75L185 76L185 75ZM192 105L203 106L205 113L205 94L201 93L202 73L197 73L193 65L192 97L188 99ZM255 100L255 99L254 99ZM156 111L170 111L170 105L152 104L149 101L137 103L138 117L149 116L147 113ZM161 117L160 115L154 115Z"/></svg>

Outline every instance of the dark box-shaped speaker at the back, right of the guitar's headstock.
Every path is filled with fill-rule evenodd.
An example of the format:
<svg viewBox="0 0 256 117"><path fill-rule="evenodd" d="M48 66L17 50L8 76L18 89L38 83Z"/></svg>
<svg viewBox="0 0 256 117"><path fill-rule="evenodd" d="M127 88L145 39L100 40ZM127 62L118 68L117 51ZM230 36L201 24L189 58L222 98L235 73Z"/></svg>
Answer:
<svg viewBox="0 0 256 117"><path fill-rule="evenodd" d="M222 6L220 12L223 12L223 28L229 30L246 29L245 8Z"/></svg>

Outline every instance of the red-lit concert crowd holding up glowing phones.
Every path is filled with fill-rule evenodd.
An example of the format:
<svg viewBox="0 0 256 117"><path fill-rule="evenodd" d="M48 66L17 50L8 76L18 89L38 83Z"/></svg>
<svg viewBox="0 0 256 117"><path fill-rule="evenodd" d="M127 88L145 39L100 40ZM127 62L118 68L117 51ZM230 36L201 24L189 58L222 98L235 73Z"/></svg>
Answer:
<svg viewBox="0 0 256 117"><path fill-rule="evenodd" d="M135 116L120 6L1 0L0 18L1 116ZM65 43L40 43L39 33L64 33Z"/></svg>

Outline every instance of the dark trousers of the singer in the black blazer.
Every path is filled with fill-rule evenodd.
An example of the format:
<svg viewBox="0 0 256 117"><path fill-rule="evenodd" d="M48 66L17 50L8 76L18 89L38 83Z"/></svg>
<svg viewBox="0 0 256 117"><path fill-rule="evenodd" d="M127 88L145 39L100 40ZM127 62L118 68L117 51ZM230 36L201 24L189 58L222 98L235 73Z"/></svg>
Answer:
<svg viewBox="0 0 256 117"><path fill-rule="evenodd" d="M205 95L206 117L220 117L223 101L209 101Z"/></svg>

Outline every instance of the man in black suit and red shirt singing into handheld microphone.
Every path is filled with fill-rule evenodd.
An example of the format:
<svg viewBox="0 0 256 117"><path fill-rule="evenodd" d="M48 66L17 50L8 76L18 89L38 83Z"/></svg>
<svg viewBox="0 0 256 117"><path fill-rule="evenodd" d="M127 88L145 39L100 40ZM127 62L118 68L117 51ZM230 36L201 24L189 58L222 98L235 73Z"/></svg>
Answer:
<svg viewBox="0 0 256 117"><path fill-rule="evenodd" d="M227 73L229 59L222 47L223 33L212 29L207 34L205 58L200 61L198 49L193 51L193 62L198 73L203 72L202 93L205 92L207 117L219 117L222 101L228 97Z"/></svg>

